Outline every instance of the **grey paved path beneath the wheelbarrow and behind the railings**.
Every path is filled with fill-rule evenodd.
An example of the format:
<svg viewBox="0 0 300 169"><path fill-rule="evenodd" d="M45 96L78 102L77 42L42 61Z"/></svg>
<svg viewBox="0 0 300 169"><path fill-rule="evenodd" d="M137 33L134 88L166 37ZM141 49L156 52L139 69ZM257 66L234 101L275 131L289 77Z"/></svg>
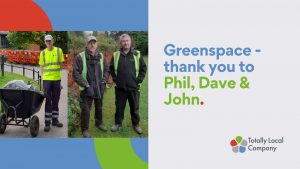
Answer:
<svg viewBox="0 0 300 169"><path fill-rule="evenodd" d="M22 66L22 65L17 65ZM38 66L25 66L27 68L34 68L36 70L40 70ZM10 67L5 66L5 71L10 72ZM14 68L14 73L23 75L23 69L21 68ZM25 76L32 78L32 71L25 71ZM64 127L57 128L52 127L50 132L44 132L44 109L45 109L45 101L43 102L43 105L41 107L41 110L37 112L35 115L39 117L40 120L40 131L37 137L67 137L68 136L68 71L63 70L62 72L62 80L61 85L63 86L63 89L61 91L60 96L60 102L59 102L59 120L63 123ZM30 138L30 132L29 128L26 127L20 127L20 126L7 126L5 133L3 135L0 135L1 137L27 137Z"/></svg>

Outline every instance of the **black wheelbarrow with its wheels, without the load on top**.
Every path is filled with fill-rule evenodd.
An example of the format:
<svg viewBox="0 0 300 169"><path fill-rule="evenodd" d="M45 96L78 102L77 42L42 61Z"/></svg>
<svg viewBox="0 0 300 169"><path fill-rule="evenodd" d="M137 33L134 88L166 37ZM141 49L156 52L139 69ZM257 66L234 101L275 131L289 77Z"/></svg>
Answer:
<svg viewBox="0 0 300 169"><path fill-rule="evenodd" d="M44 95L37 91L22 89L0 89L0 100L4 113L0 116L0 134L7 125L30 128L32 137L39 133L40 122L37 113L44 101Z"/></svg>

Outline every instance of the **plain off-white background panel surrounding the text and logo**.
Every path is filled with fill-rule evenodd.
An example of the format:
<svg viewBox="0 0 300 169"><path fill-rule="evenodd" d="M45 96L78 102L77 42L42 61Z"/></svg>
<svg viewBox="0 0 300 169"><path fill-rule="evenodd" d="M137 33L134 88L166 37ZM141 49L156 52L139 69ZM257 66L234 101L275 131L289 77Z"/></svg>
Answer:
<svg viewBox="0 0 300 169"><path fill-rule="evenodd" d="M150 169L300 168L300 1L149 1ZM259 48L248 58L175 58L176 62L255 65L252 73L218 73L215 79L246 75L251 89L197 90L205 105L166 106L164 46ZM196 79L199 75L184 74ZM230 140L284 137L273 152L235 154Z"/></svg>

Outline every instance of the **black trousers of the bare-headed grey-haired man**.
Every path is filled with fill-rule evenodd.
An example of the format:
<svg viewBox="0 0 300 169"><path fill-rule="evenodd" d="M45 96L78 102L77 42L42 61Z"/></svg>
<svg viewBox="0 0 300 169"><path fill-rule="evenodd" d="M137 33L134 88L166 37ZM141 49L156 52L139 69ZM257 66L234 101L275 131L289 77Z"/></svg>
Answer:
<svg viewBox="0 0 300 169"><path fill-rule="evenodd" d="M125 91L118 87L115 87L115 96L116 96L115 123L122 124L122 121L124 119L124 110L126 107L126 102L128 100L132 125L133 126L138 125L140 122L140 115L139 115L140 92L138 90Z"/></svg>

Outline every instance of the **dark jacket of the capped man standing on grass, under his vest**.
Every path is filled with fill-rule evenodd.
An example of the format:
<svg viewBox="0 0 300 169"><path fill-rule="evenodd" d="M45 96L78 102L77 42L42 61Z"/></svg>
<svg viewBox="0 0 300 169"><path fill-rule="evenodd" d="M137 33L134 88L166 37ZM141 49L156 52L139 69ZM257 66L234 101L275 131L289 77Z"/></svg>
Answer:
<svg viewBox="0 0 300 169"><path fill-rule="evenodd" d="M82 94L92 97L92 98L101 98L101 95L105 89L106 79L109 75L108 66L104 62L104 70L102 76L102 70L99 65L99 59L101 55L99 51L96 51L95 56L89 54L85 50L86 55L86 64L87 64L87 77L83 79L81 73L83 70L83 62L80 55L76 56L74 65L73 65L73 79L81 87L85 87L85 90L82 91ZM104 60L104 58L103 58ZM86 86L90 86L86 88Z"/></svg>

